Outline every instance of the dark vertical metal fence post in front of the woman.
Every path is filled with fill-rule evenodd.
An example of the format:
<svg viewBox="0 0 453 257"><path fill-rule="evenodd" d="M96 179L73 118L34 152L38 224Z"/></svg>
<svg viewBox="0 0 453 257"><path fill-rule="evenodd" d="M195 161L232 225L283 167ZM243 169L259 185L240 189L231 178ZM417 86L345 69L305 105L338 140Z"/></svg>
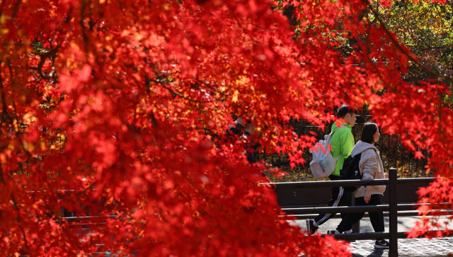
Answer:
<svg viewBox="0 0 453 257"><path fill-rule="evenodd" d="M389 169L389 257L398 256L398 195L396 169Z"/></svg>

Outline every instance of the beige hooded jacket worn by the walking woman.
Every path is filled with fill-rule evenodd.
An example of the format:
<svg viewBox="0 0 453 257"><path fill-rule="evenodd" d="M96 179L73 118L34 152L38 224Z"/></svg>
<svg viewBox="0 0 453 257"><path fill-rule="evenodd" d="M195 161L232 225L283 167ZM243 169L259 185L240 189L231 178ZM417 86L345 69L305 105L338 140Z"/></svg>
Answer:
<svg viewBox="0 0 453 257"><path fill-rule="evenodd" d="M379 150L373 144L368 144L359 140L352 149L351 156L362 153L360 156L359 170L363 174L362 180L385 178L384 166L379 156ZM385 185L368 185L371 187L372 195L382 195L385 191ZM365 196L365 186L361 186L354 191L354 197L360 198Z"/></svg>

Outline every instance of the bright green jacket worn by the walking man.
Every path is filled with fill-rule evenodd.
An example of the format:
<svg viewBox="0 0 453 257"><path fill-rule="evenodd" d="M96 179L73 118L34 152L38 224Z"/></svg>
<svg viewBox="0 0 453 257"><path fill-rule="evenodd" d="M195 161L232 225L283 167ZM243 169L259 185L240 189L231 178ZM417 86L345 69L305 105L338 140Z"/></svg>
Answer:
<svg viewBox="0 0 453 257"><path fill-rule="evenodd" d="M335 130L337 125L336 123L340 122L337 120L333 122L332 130ZM338 130L333 133L332 142L331 142L331 153L332 157L336 158L340 154L342 156L338 159L337 164L335 166L335 171L333 171L332 175L340 176L340 169L343 168L343 163L348 156L351 155L352 148L354 147L354 135L352 135L352 127L345 122L342 122L343 127L338 128Z"/></svg>

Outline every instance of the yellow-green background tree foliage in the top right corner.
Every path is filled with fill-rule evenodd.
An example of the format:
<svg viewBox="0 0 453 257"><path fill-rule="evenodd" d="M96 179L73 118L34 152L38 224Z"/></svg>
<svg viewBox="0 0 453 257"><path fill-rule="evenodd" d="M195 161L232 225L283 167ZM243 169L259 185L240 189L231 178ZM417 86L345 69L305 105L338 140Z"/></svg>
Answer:
<svg viewBox="0 0 453 257"><path fill-rule="evenodd" d="M452 84L452 2L395 1L371 4L370 18L381 20L406 45L418 62L411 63L406 81L439 79ZM425 67L425 69L420 69ZM451 107L451 98L446 96Z"/></svg>

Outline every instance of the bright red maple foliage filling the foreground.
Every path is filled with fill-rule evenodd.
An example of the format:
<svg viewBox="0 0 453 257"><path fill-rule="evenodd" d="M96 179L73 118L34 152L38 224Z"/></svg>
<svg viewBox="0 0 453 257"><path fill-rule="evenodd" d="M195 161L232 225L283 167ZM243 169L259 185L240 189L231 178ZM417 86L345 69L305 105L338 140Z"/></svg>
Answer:
<svg viewBox="0 0 453 257"><path fill-rule="evenodd" d="M1 255L345 253L279 217L263 165L224 140L232 115L302 164L314 138L290 118L323 127L340 103L368 105L452 176L447 89L403 81L413 57L362 19L367 1L287 4L299 33L268 0L1 1Z"/></svg>

